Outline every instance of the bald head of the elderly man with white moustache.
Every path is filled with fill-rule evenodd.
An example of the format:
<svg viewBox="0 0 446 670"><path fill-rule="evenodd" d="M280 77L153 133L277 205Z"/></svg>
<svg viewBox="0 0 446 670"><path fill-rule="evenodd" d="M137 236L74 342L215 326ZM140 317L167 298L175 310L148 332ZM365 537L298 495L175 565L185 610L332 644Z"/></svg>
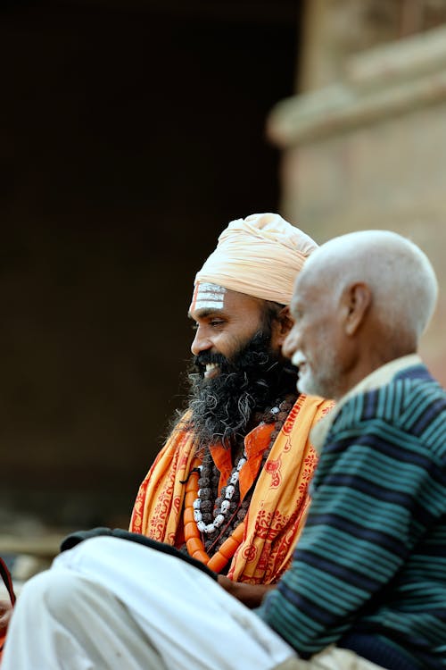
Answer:
<svg viewBox="0 0 446 670"><path fill-rule="evenodd" d="M284 350L301 367L300 390L339 398L380 365L414 353L437 294L427 256L397 233L326 242L307 260L291 305Z"/></svg>

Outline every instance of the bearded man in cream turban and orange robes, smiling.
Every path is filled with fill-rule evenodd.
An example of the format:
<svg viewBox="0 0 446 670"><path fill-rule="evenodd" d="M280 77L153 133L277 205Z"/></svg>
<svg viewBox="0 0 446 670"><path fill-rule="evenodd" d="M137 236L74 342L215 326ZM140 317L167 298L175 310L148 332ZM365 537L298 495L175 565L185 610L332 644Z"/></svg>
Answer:
<svg viewBox="0 0 446 670"><path fill-rule="evenodd" d="M280 353L293 281L317 248L278 214L230 222L197 272L186 413L139 489L130 530L174 545L255 606L291 561L309 504L310 429L331 404L299 395Z"/></svg>

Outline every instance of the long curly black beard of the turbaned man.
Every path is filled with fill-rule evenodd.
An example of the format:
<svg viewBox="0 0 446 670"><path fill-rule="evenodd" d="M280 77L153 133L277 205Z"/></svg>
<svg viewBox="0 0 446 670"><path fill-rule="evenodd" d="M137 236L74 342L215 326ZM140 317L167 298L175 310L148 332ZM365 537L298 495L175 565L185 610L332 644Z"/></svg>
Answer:
<svg viewBox="0 0 446 670"><path fill-rule="evenodd" d="M270 333L258 332L231 358L202 352L194 357L187 428L197 448L210 444L231 447L252 429L252 417L286 394L297 396L297 372L270 347ZM206 364L219 364L219 374L204 379Z"/></svg>

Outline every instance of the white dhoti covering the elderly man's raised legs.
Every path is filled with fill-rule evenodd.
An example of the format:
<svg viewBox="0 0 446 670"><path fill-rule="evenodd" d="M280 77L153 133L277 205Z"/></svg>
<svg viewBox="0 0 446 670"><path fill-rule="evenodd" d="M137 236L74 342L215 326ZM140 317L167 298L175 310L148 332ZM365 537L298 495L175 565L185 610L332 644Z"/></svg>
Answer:
<svg viewBox="0 0 446 670"><path fill-rule="evenodd" d="M350 651L309 662L185 561L86 540L25 584L2 670L374 670Z"/></svg>

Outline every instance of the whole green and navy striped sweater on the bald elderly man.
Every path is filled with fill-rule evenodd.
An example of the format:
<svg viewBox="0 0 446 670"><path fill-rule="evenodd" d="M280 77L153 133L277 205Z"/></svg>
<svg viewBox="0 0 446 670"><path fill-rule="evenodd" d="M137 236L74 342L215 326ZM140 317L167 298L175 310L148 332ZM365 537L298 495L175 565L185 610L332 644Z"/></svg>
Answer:
<svg viewBox="0 0 446 670"><path fill-rule="evenodd" d="M446 393L424 365L335 417L293 565L257 613L301 657L335 643L446 668Z"/></svg>

